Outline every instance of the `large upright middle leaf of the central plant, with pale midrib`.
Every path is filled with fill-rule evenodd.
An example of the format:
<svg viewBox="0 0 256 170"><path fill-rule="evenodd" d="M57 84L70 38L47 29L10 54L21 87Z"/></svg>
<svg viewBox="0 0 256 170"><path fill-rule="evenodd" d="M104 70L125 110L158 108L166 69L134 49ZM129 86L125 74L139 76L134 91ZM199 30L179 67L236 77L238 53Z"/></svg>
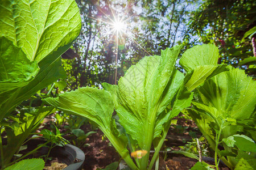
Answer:
<svg viewBox="0 0 256 170"><path fill-rule="evenodd" d="M160 135L162 125L171 114L164 110L183 84L184 75L175 70L180 48L162 50L161 56L144 57L127 70L125 76L119 79L118 86L103 84L117 100L114 103L120 124L141 148L154 136ZM158 117L162 119L158 120ZM156 132L147 139L147 135L152 135L149 130L153 134Z"/></svg>

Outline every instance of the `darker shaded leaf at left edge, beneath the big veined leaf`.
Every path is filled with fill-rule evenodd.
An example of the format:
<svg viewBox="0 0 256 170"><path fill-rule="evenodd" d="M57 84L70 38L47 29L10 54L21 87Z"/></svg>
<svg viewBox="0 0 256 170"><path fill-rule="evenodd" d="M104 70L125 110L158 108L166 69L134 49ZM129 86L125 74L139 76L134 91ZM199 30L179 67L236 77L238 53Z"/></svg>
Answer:
<svg viewBox="0 0 256 170"><path fill-rule="evenodd" d="M26 86L35 78L38 71L37 63L30 62L21 48L13 45L13 42L5 37L0 37L0 95ZM3 97L7 99L6 95Z"/></svg>

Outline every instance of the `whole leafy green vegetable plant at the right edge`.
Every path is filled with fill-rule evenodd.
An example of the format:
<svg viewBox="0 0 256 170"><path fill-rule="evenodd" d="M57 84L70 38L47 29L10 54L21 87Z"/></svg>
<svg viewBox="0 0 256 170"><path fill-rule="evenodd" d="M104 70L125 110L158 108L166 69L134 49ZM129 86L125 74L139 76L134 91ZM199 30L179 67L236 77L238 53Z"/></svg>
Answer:
<svg viewBox="0 0 256 170"><path fill-rule="evenodd" d="M231 169L255 169L256 82L230 68L197 87L192 103L187 112L215 151L216 168L220 158Z"/></svg>

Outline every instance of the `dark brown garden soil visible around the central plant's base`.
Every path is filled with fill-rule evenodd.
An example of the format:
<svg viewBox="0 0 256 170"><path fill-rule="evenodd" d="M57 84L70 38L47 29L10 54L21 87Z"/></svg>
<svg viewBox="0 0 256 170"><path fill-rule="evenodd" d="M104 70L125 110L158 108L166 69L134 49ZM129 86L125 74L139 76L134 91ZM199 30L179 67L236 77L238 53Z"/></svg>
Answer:
<svg viewBox="0 0 256 170"><path fill-rule="evenodd" d="M177 125L184 128L183 131L179 131L171 126L168 131L166 147L170 147L171 150L179 150L179 146L184 146L186 142L191 141L192 137L188 134L188 131L195 131L196 136L200 137L201 133L197 129L195 123L191 120L186 120L183 117L175 117L177 119ZM90 125L81 126L81 129L87 133L92 131ZM104 136L100 130L97 133L89 135L86 139L86 143L89 145L80 148L85 153L85 162L83 165L84 170L96 170L97 168L105 168L107 165L118 162L120 159L119 154L112 147L111 143ZM63 131L64 132L64 131ZM67 138L68 139L68 138ZM72 144L72 143L71 143ZM214 165L214 161L205 161L208 164ZM167 154L166 160L163 160L163 154L160 153L159 169L178 169L187 170L193 167L197 163L196 159L188 158L180 154ZM229 168L224 165L220 165L221 170L228 170Z"/></svg>

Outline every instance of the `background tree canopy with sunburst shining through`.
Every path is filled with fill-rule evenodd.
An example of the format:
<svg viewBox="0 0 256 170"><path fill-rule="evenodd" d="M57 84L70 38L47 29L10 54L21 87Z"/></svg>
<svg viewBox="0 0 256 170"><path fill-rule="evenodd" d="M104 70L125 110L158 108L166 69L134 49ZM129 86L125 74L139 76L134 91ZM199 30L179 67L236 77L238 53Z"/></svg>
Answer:
<svg viewBox="0 0 256 170"><path fill-rule="evenodd" d="M65 53L69 59L63 59L71 89L100 86L102 82L115 84L116 59L118 80L142 57L159 55L161 49L176 44L183 44L184 49L215 44L221 53L219 63L255 76L253 0L76 2L83 23L81 34L72 50ZM113 28L117 20L126 24L118 35Z"/></svg>

